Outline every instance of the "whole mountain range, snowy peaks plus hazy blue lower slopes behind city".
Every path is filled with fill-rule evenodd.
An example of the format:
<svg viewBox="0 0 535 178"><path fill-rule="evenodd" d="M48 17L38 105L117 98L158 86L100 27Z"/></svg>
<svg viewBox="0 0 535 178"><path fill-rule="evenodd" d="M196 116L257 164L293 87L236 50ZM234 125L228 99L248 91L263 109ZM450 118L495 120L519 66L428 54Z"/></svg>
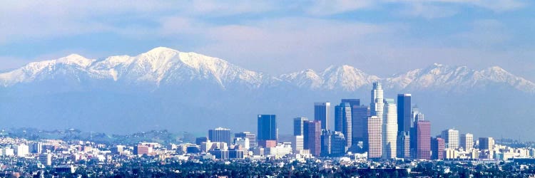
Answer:
<svg viewBox="0 0 535 178"><path fill-rule="evenodd" d="M344 65L270 75L164 47L102 59L72 54L0 73L0 122L101 132L201 133L218 126L254 132L255 115L272 113L281 132L290 132L291 118L311 115L315 101L360 98L369 104L374 81L383 83L386 98L412 93L436 132L457 127L500 136L491 128L509 137L535 136L521 124L532 122L535 84L499 66L434 63L379 77Z"/></svg>

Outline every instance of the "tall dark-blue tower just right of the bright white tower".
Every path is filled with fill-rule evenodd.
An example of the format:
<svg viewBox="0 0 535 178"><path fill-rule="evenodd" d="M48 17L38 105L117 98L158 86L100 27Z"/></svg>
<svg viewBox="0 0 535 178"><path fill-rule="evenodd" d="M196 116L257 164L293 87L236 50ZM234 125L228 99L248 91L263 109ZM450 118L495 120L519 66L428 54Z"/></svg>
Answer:
<svg viewBox="0 0 535 178"><path fill-rule="evenodd" d="M411 94L397 95L397 131L409 132L411 128Z"/></svg>

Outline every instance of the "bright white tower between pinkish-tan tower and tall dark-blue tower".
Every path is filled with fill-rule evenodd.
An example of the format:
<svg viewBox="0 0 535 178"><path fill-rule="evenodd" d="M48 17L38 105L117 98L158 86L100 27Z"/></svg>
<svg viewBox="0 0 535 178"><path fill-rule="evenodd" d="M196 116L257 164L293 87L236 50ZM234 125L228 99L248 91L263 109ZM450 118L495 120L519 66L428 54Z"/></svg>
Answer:
<svg viewBox="0 0 535 178"><path fill-rule="evenodd" d="M397 151L397 107L394 99L384 99L382 117L382 157L392 159Z"/></svg>

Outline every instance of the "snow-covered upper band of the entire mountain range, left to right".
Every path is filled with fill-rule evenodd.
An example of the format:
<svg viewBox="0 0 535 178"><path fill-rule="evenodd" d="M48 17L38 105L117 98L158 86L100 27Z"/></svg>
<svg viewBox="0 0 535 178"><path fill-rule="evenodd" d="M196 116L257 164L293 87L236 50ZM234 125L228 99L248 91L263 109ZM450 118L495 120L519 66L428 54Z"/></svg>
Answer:
<svg viewBox="0 0 535 178"><path fill-rule="evenodd" d="M64 78L75 83L85 80L106 80L127 85L184 85L205 82L219 88L291 85L307 90L356 91L370 88L374 81L382 81L394 90L442 90L463 92L487 85L508 85L525 93L535 93L535 84L517 77L497 66L472 70L466 66L445 66L435 63L427 68L409 70L390 78L368 75L352 66L330 66L318 73L315 70L279 75L264 75L235 66L220 58L198 53L183 53L171 48L158 47L138 56L111 56L102 61L76 54L51 61L28 65L0 73L0 85L9 88L19 83Z"/></svg>

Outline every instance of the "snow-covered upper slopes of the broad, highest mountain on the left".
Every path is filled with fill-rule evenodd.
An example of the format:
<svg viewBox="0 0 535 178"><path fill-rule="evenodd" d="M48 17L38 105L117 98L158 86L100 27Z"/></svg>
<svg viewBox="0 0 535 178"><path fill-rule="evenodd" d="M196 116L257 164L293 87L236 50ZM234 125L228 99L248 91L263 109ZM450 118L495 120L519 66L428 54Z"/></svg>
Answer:
<svg viewBox="0 0 535 178"><path fill-rule="evenodd" d="M61 76L78 81L87 77L92 80L141 85L148 83L156 86L208 80L223 89L233 84L258 88L263 80L261 73L239 68L220 58L158 47L138 56L111 56L103 61L73 54L56 60L29 63L9 73L1 73L0 84L9 87Z"/></svg>

